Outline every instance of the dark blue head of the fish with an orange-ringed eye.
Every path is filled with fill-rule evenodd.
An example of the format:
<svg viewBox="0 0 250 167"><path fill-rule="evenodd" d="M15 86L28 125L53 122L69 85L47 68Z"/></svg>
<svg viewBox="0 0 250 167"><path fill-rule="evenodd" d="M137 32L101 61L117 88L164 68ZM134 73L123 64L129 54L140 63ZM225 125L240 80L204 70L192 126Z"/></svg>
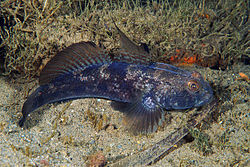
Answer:
<svg viewBox="0 0 250 167"><path fill-rule="evenodd" d="M173 80L171 90L165 93L163 104L166 109L188 109L208 104L212 99L213 91L209 83L200 73L193 71Z"/></svg>

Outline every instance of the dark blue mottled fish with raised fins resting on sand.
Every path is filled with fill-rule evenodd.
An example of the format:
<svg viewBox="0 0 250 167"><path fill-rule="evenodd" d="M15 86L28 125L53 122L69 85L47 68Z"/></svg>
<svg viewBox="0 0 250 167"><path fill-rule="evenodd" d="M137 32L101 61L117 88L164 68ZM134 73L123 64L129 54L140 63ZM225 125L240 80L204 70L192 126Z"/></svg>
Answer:
<svg viewBox="0 0 250 167"><path fill-rule="evenodd" d="M93 42L79 42L56 54L44 67L39 87L22 107L28 115L43 105L81 98L111 100L134 133L152 133L165 111L200 107L213 91L200 73L153 62L148 46L131 41L115 24L120 50L109 53Z"/></svg>

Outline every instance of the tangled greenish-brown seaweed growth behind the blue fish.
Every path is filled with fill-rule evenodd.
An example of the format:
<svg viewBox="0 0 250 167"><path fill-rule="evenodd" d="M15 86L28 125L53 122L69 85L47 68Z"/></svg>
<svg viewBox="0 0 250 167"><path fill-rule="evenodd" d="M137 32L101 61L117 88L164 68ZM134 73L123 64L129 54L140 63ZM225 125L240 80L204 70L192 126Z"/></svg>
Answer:
<svg viewBox="0 0 250 167"><path fill-rule="evenodd" d="M56 52L82 40L117 48L116 33L108 35L111 17L133 40L149 43L157 61L184 60L178 49L188 52L186 59L199 55L198 65L226 69L249 54L244 0L5 0L0 7L0 54L7 76L39 76Z"/></svg>

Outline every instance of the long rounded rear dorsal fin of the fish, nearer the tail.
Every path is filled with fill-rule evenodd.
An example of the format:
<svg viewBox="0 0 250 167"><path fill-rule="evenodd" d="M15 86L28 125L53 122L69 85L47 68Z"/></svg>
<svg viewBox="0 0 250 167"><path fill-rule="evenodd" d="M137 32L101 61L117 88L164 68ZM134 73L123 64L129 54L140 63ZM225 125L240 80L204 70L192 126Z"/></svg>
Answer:
<svg viewBox="0 0 250 167"><path fill-rule="evenodd" d="M75 43L59 52L46 64L40 74L39 84L46 84L63 73L105 62L110 62L109 55L93 42Z"/></svg>

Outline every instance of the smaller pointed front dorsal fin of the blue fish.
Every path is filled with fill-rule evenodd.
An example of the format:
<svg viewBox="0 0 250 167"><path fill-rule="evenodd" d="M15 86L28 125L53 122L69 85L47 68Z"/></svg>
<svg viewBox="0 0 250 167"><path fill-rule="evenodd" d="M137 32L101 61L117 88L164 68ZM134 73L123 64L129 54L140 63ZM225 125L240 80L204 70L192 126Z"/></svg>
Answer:
<svg viewBox="0 0 250 167"><path fill-rule="evenodd" d="M151 56L148 46L144 43L140 46L136 45L117 27L115 22L114 25L120 35L121 45L120 53L114 57L114 61L133 64L150 64Z"/></svg>

